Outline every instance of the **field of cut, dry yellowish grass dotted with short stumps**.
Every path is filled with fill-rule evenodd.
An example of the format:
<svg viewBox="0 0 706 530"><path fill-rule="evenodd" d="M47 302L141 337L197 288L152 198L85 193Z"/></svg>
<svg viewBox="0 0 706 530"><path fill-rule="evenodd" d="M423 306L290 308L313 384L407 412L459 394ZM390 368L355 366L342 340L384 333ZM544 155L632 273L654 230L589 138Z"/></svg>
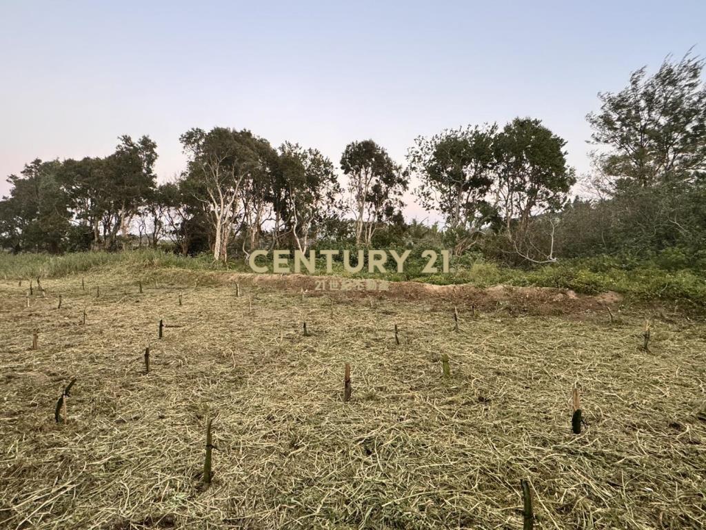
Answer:
<svg viewBox="0 0 706 530"><path fill-rule="evenodd" d="M706 526L706 324L673 307L160 266L35 279L28 307L28 283L0 283L0 528L520 529L523 478L535 528Z"/></svg>

